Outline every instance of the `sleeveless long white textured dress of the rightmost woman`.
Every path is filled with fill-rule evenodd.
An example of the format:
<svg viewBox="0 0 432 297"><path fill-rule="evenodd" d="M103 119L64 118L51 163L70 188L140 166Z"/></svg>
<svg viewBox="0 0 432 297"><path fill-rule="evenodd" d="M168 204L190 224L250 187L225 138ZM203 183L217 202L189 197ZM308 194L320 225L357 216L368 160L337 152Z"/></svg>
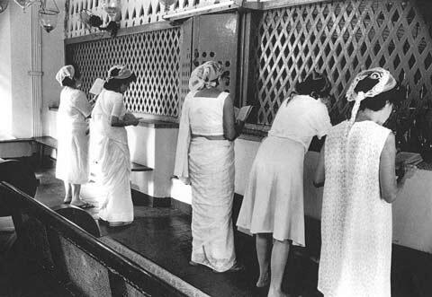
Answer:
<svg viewBox="0 0 432 297"><path fill-rule="evenodd" d="M392 205L381 198L379 169L391 131L347 121L326 139L318 288L328 297L390 297Z"/></svg>

